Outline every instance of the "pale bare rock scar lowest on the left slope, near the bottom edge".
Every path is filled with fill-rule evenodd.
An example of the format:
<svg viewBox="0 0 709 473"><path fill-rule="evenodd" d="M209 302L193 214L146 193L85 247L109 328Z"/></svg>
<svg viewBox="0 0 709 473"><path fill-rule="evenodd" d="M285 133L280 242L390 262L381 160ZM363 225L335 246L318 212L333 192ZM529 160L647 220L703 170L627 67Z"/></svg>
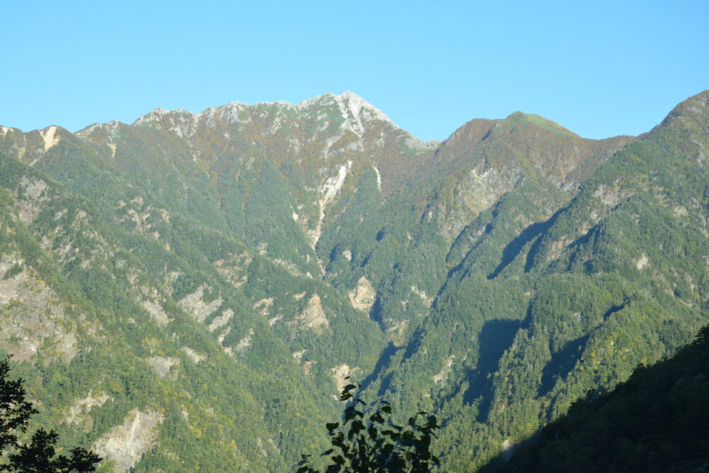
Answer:
<svg viewBox="0 0 709 473"><path fill-rule="evenodd" d="M113 462L116 472L128 472L155 444L162 419L157 411L133 409L123 424L116 425L96 442L94 450Z"/></svg>

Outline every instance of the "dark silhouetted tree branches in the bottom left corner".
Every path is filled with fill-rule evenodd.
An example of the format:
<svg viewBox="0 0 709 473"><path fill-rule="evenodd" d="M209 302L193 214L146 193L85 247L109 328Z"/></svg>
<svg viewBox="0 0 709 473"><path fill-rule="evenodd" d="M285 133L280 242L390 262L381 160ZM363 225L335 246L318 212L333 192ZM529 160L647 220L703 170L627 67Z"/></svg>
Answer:
<svg viewBox="0 0 709 473"><path fill-rule="evenodd" d="M23 379L9 380L8 360L0 361L0 452L7 461L0 470L22 473L94 472L101 457L82 447L74 447L71 456L56 456L55 445L59 435L55 430L38 429L28 443L18 441L24 433L30 416L38 413L26 401Z"/></svg>

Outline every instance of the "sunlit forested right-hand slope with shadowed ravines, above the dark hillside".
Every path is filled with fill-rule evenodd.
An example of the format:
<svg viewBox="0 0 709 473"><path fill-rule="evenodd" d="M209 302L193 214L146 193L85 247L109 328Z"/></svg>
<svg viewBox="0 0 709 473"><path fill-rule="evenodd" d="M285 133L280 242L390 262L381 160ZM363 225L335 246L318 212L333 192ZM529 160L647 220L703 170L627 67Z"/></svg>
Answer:
<svg viewBox="0 0 709 473"><path fill-rule="evenodd" d="M626 145L546 221L498 239L492 220L383 370L381 394L444 416L447 467L479 466L705 323L708 99ZM542 201L513 198L498 205Z"/></svg>

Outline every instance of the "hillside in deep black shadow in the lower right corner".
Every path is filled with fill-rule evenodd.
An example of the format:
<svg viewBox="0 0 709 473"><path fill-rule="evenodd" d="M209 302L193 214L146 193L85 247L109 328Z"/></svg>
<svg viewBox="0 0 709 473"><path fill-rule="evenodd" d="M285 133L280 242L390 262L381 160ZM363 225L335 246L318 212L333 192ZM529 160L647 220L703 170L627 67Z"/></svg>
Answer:
<svg viewBox="0 0 709 473"><path fill-rule="evenodd" d="M487 472L696 472L709 464L709 325L613 391L589 391Z"/></svg>

